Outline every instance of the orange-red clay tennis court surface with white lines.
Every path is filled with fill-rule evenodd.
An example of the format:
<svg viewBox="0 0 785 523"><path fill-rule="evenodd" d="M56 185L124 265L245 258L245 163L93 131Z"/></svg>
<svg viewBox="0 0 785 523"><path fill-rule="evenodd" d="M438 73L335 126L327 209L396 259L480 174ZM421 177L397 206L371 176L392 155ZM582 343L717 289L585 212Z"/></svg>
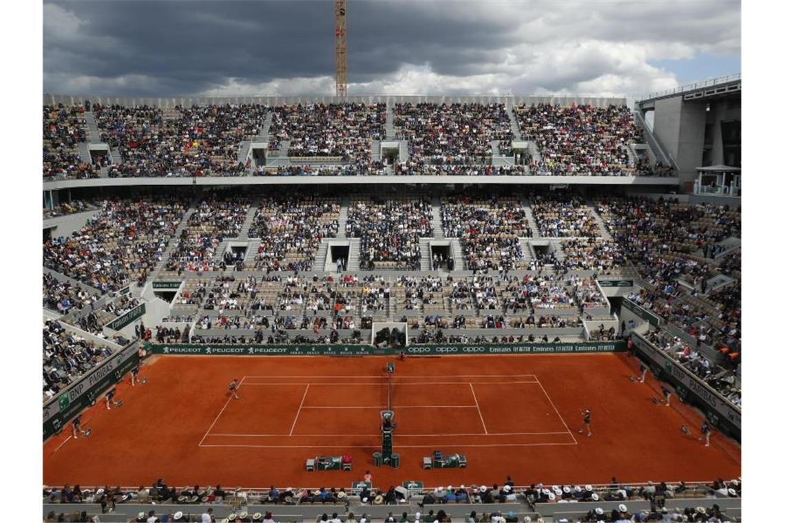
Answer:
<svg viewBox="0 0 785 523"><path fill-rule="evenodd" d="M392 395L385 372L395 361ZM144 386L119 386L44 444L44 482L81 485L348 486L366 469L374 485L706 481L739 476L738 445L675 399L655 405L659 383L632 383L626 354L407 358L162 356ZM228 383L240 380L239 400ZM389 399L400 468L372 467L379 412ZM591 438L580 409L593 411ZM691 434L679 427L687 425ZM466 455L466 469L423 470L434 450ZM354 470L306 472L305 459L352 456Z"/></svg>

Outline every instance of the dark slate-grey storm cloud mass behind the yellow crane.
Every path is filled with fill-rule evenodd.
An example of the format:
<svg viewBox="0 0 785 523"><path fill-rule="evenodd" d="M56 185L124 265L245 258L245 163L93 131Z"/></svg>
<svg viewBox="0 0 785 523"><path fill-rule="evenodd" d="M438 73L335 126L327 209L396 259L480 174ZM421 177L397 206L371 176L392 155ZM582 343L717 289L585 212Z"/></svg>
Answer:
<svg viewBox="0 0 785 523"><path fill-rule="evenodd" d="M45 74L155 78L152 90L137 85L103 94L166 96L199 93L228 78L261 83L333 74L332 2L51 4L74 13L82 24L74 38L45 31ZM353 3L348 20L349 62L359 81L413 59L445 74L466 71L467 64L487 60L483 49L502 45L499 29L505 25L450 20L440 27L433 16L412 18L400 6L375 2ZM169 92L162 93L162 85Z"/></svg>

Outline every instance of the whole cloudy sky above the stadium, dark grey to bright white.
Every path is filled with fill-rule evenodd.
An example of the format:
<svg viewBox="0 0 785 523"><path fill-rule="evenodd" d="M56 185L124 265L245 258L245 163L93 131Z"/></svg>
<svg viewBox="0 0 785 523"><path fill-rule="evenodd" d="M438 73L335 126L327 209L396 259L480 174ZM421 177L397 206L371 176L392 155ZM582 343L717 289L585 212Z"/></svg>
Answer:
<svg viewBox="0 0 785 523"><path fill-rule="evenodd" d="M47 93L334 93L331 0L44 2ZM741 70L739 1L347 0L349 94L651 93Z"/></svg>

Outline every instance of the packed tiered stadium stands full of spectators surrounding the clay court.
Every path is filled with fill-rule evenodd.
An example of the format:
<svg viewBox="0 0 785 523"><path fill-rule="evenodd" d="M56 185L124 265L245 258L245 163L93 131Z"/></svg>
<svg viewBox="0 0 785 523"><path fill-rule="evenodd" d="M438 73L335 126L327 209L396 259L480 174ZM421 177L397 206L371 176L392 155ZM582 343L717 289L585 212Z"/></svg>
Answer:
<svg viewBox="0 0 785 523"><path fill-rule="evenodd" d="M677 171L633 111L579 102L50 100L44 190L57 197L43 210L44 404L130 344L403 350L375 328L396 325L413 347L634 346L653 370L655 358L637 352L645 345L740 420L740 205L666 194ZM433 175L550 185L365 178ZM561 181L574 176L666 182L632 191ZM160 177L192 180L145 181ZM197 183L213 177L246 178ZM732 423L712 423L738 438ZM205 507L215 521L266 523L740 521L740 505L727 503L741 496L739 479L499 479L408 492L151 478L138 488L46 487L43 499L46 521L205 521Z"/></svg>

